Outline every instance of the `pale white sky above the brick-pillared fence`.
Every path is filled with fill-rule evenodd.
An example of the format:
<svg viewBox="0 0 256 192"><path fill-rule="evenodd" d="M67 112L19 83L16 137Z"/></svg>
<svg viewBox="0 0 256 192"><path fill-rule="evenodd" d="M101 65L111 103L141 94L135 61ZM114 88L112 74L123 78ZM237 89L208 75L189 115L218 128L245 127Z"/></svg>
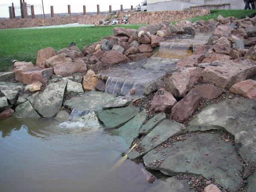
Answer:
<svg viewBox="0 0 256 192"><path fill-rule="evenodd" d="M131 5L135 6L142 0L43 0L44 12L50 13L50 6L53 6L54 13L67 12L67 5L70 5L71 12L83 12L83 6L86 6L86 12L97 12L97 5L99 5L100 11L108 11L109 6L112 6L112 10L120 9L120 5L123 5L123 9L131 9ZM42 4L42 0L25 0L27 4L35 5ZM20 0L0 0L1 4L19 4Z"/></svg>

